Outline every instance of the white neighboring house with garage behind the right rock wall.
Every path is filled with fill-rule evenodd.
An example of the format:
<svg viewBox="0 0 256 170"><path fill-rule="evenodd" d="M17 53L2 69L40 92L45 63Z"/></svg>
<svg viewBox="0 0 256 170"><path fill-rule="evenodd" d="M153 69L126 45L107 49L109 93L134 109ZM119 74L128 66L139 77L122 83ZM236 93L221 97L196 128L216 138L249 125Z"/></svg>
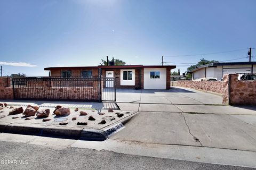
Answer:
<svg viewBox="0 0 256 170"><path fill-rule="evenodd" d="M196 67L189 70L192 80L203 78L222 79L224 74L252 74L256 73L256 62L232 62L232 63L212 63Z"/></svg>

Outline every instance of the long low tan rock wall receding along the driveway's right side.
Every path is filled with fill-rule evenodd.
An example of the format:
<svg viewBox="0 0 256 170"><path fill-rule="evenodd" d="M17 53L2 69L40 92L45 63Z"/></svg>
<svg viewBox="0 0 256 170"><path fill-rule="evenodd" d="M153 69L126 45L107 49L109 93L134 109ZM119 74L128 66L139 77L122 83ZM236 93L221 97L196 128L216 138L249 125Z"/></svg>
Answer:
<svg viewBox="0 0 256 170"><path fill-rule="evenodd" d="M172 81L172 86L223 93L223 81Z"/></svg>

